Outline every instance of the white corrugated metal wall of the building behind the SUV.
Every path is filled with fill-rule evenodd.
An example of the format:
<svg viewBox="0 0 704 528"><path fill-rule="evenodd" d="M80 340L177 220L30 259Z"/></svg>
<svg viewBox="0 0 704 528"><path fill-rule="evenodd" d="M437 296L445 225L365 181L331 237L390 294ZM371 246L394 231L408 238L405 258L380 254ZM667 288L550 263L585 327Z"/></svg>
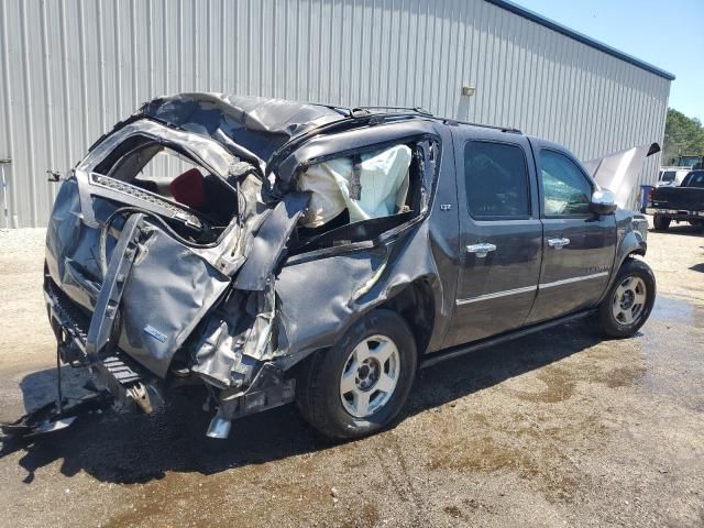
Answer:
<svg viewBox="0 0 704 528"><path fill-rule="evenodd" d="M0 68L11 227L44 226L57 190L45 170L158 95L422 106L588 160L661 140L670 89L484 0L0 0Z"/></svg>

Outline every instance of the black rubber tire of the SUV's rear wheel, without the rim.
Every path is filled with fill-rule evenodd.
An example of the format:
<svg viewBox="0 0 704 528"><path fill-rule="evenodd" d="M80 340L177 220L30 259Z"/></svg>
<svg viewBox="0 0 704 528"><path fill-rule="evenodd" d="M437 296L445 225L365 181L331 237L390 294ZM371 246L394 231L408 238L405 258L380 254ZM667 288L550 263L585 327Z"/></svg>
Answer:
<svg viewBox="0 0 704 528"><path fill-rule="evenodd" d="M358 418L342 404L340 381L354 348L374 336L386 337L396 345L398 377L389 399L371 416ZM417 363L416 341L406 320L391 310L374 310L353 323L334 346L316 352L301 365L296 388L298 409L306 421L330 439L372 435L398 416L413 386Z"/></svg>

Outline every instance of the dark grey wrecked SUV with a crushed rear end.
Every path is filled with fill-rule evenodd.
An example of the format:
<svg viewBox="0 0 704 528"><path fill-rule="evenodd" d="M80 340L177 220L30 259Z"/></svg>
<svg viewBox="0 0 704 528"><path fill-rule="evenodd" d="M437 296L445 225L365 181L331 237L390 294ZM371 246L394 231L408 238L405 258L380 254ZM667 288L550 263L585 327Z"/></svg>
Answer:
<svg viewBox="0 0 704 528"><path fill-rule="evenodd" d="M44 292L63 362L152 410L199 384L231 421L297 402L332 438L393 421L416 371L656 295L646 223L564 147L416 110L187 94L63 184Z"/></svg>

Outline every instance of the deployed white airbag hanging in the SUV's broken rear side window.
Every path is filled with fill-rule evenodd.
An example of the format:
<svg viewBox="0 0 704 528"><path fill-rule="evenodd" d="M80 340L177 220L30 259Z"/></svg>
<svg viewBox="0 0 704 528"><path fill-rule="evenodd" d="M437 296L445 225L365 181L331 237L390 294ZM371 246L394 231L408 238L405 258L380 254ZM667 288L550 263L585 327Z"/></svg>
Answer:
<svg viewBox="0 0 704 528"><path fill-rule="evenodd" d="M350 213L350 222L398 212L408 194L410 156L410 148L406 145L362 154L359 200L350 197L354 168L351 157L312 165L298 180L299 190L312 193L301 224L306 228L320 227L345 208Z"/></svg>

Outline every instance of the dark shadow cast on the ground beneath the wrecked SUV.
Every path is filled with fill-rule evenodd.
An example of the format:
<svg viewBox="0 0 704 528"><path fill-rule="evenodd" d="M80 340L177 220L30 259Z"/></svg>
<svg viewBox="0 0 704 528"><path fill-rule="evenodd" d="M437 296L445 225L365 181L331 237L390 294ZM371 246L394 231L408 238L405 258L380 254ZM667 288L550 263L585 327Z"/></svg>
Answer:
<svg viewBox="0 0 704 528"><path fill-rule="evenodd" d="M590 321L578 321L426 369L402 419L559 362L600 339ZM52 387L55 376L52 370L26 376L21 383L25 402L35 398L38 387ZM74 386L78 382L74 380ZM223 449L213 452L206 443L209 414L201 410L202 402L201 394L184 394L150 416L107 411L84 417L33 444L3 446L0 458L20 451L25 483L57 460L66 476L84 471L102 482L139 483L162 479L166 472L213 474L334 447L289 405L234 422Z"/></svg>

